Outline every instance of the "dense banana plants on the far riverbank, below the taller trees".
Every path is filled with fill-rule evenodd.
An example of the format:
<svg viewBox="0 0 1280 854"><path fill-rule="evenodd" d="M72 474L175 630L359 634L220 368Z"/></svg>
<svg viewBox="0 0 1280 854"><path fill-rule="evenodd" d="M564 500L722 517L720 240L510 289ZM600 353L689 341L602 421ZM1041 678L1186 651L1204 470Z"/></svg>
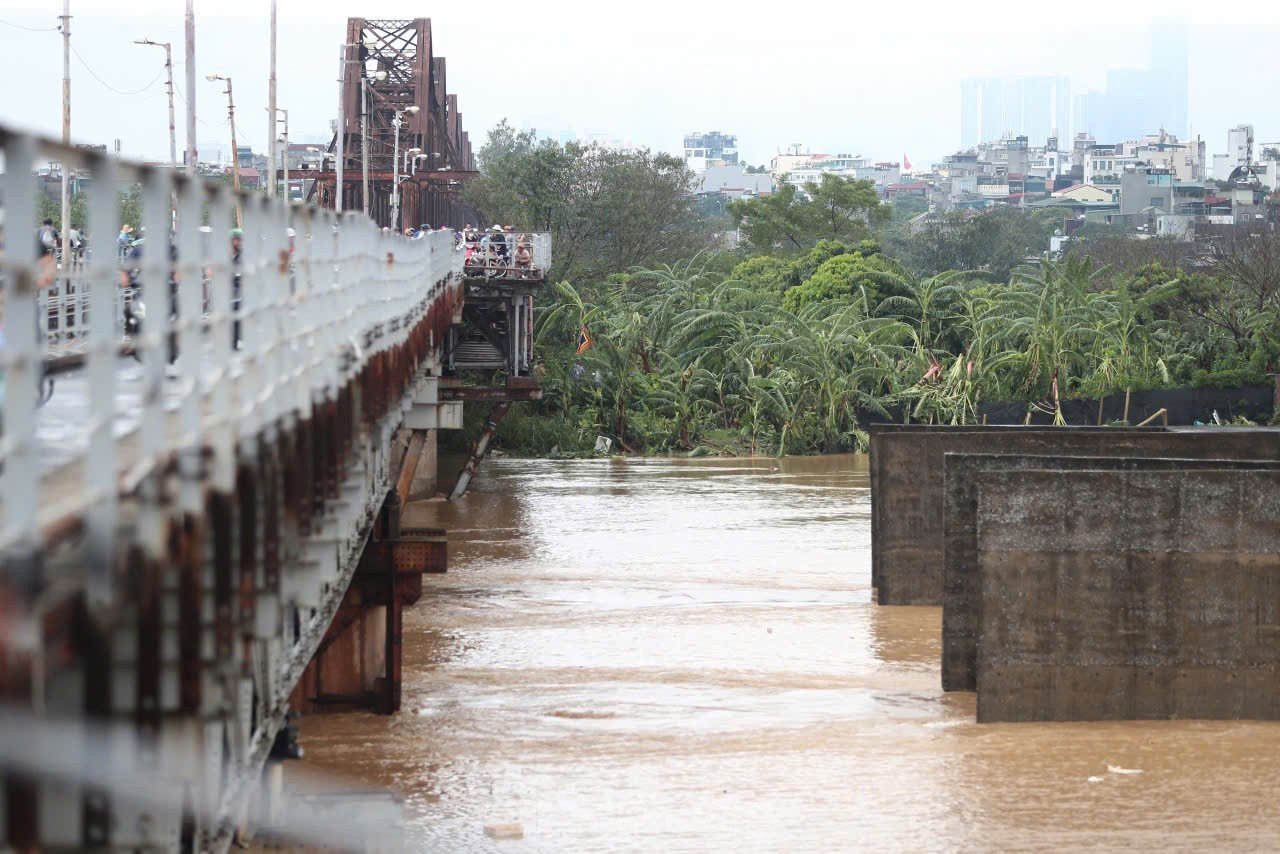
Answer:
<svg viewBox="0 0 1280 854"><path fill-rule="evenodd" d="M636 452L829 452L861 447L868 415L1060 412L1071 396L1265 383L1280 362L1280 279L1260 301L1225 271L1146 266L1106 287L1076 257L1007 282L913 277L852 247L806 278L805 256L723 261L557 284L539 325L547 397L511 416L508 447L576 452L604 434ZM594 346L576 355L584 326Z"/></svg>

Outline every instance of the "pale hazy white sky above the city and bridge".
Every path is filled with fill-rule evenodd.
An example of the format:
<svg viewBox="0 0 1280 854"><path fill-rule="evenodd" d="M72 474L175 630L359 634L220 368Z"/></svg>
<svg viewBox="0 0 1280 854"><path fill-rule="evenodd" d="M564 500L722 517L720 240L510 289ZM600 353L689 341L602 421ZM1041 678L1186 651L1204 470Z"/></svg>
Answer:
<svg viewBox="0 0 1280 854"><path fill-rule="evenodd" d="M182 88L183 0L72 0L72 134L168 156L163 51L173 41ZM227 143L227 101L209 72L233 77L241 145L266 147L268 0L196 0L198 141ZM599 136L676 151L686 131L739 136L750 163L800 142L814 151L920 166L960 141L964 77L1068 74L1100 87L1107 68L1147 63L1153 15L1184 20L1190 117L1208 151L1252 122L1280 138L1280 5L1184 0L1053 4L424 3L279 0L279 104L292 136L325 136L337 109L348 15L430 15L438 55L475 141L503 117L553 136ZM61 0L0 0L0 120L60 129ZM83 61L81 60L83 59ZM101 78L95 79L93 74ZM140 95L119 95L154 86ZM184 147L178 102L178 147ZM1034 141L1043 142L1043 141ZM180 157L180 155L179 155Z"/></svg>

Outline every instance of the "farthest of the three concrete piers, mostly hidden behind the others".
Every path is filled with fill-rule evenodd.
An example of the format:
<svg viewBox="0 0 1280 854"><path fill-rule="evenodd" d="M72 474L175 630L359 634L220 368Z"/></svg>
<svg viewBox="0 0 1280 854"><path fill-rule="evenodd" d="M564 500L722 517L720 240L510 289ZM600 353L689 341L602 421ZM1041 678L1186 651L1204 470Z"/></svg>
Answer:
<svg viewBox="0 0 1280 854"><path fill-rule="evenodd" d="M943 453L1280 460L1280 431L877 425L870 448L878 602L941 606Z"/></svg>

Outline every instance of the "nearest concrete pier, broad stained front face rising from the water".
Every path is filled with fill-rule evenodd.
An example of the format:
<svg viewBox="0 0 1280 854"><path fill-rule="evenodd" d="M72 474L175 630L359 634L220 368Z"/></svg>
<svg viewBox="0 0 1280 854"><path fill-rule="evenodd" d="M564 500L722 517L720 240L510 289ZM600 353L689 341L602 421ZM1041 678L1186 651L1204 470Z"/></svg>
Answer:
<svg viewBox="0 0 1280 854"><path fill-rule="evenodd" d="M977 480L979 722L1280 720L1280 471Z"/></svg>

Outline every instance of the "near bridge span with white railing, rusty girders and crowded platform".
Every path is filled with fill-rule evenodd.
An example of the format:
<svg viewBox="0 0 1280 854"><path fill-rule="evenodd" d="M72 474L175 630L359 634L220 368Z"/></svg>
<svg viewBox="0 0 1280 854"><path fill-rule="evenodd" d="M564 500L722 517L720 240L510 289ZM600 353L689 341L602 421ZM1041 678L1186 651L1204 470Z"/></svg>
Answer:
<svg viewBox="0 0 1280 854"><path fill-rule="evenodd" d="M424 143L444 132L422 118ZM463 401L538 397L549 241L536 266L467 268L452 233L3 127L0 152L0 839L224 850L291 709L398 708L402 607L447 562L399 508ZM92 175L83 261L31 238L51 159ZM148 237L122 266L127 186ZM352 643L372 663L335 671ZM308 828L342 846L360 825Z"/></svg>

